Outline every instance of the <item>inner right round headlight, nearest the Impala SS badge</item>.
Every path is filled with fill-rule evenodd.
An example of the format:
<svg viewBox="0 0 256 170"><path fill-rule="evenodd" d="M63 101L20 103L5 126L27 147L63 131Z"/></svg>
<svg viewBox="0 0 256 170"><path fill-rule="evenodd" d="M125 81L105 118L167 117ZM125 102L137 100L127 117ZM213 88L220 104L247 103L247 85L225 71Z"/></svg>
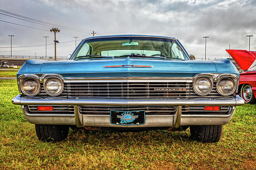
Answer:
<svg viewBox="0 0 256 170"><path fill-rule="evenodd" d="M207 77L199 77L194 81L194 92L198 95L207 95L212 90L212 82Z"/></svg>

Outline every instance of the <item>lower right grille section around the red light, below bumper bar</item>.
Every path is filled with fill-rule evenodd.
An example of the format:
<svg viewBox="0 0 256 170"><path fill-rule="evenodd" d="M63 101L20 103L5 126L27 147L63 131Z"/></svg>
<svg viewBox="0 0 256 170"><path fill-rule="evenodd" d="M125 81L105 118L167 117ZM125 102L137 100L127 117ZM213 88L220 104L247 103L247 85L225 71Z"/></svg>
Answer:
<svg viewBox="0 0 256 170"><path fill-rule="evenodd" d="M228 114L230 106L220 106L220 111L205 111L204 106L182 106L182 114Z"/></svg>

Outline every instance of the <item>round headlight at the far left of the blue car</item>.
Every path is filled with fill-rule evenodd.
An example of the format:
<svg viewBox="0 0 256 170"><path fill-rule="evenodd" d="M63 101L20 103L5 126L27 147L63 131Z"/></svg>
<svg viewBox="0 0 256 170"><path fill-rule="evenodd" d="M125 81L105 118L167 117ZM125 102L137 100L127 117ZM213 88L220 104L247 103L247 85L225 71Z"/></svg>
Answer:
<svg viewBox="0 0 256 170"><path fill-rule="evenodd" d="M26 78L22 81L21 91L28 96L37 95L40 92L40 84L36 78Z"/></svg>

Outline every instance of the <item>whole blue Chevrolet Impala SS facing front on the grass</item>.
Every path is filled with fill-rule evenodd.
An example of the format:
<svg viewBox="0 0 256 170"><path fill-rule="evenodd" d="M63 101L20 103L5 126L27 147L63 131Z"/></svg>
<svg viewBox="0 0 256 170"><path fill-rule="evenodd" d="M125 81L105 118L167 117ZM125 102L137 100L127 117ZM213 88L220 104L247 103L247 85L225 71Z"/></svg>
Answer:
<svg viewBox="0 0 256 170"><path fill-rule="evenodd" d="M21 105L42 141L72 129L183 131L218 142L236 106L239 73L226 59L196 61L171 37L82 40L68 60L28 60L17 73Z"/></svg>

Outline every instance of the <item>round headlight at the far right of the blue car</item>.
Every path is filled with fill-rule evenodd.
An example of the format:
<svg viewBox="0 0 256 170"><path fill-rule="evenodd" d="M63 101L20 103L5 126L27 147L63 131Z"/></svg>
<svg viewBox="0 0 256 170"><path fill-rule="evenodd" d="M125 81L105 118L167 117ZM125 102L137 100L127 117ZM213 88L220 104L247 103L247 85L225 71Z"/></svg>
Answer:
<svg viewBox="0 0 256 170"><path fill-rule="evenodd" d="M223 77L217 81L217 92L221 95L227 96L235 92L235 82L232 78Z"/></svg>

